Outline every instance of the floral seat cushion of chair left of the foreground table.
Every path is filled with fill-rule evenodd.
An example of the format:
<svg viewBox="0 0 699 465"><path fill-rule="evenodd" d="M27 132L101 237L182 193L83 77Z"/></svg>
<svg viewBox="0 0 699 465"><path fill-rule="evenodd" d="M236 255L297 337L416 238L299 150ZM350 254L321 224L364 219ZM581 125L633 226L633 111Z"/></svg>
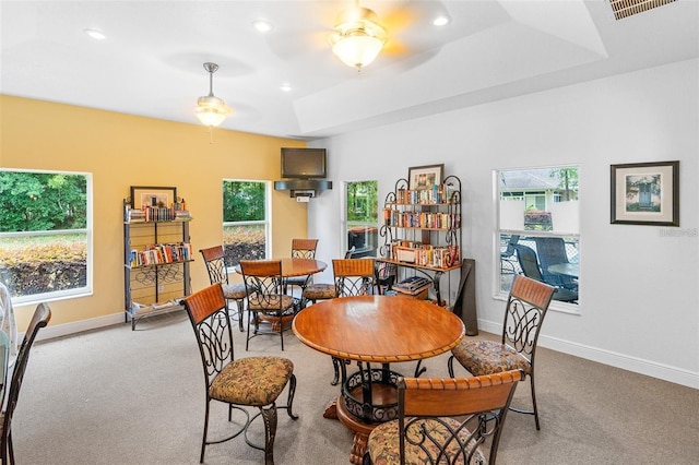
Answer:
<svg viewBox="0 0 699 465"><path fill-rule="evenodd" d="M237 405L273 403L294 373L292 360L281 357L248 357L228 363L209 388L212 398Z"/></svg>

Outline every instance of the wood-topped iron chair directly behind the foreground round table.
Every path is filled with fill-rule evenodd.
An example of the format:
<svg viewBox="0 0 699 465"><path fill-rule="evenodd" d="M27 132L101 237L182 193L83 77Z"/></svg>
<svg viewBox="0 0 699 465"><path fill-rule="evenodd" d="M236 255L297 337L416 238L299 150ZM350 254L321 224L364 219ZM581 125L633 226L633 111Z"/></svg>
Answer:
<svg viewBox="0 0 699 465"><path fill-rule="evenodd" d="M335 296L366 296L375 294L377 273L375 259L335 259L332 261L332 272L335 279ZM336 357L332 358L334 375L330 384L340 382L340 363L350 363Z"/></svg>

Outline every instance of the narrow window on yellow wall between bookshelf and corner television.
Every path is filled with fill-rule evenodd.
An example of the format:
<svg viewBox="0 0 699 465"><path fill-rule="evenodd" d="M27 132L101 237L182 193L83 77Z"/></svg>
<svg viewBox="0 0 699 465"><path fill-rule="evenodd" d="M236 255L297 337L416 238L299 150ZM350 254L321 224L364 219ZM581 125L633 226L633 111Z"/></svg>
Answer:
<svg viewBox="0 0 699 465"><path fill-rule="evenodd" d="M223 247L226 265L270 255L269 181L223 181Z"/></svg>

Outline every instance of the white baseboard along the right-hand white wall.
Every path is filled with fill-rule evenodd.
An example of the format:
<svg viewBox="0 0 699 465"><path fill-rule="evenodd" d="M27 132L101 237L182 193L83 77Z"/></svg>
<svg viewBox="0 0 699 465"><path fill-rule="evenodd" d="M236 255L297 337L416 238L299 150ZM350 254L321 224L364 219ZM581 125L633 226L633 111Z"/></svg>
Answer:
<svg viewBox="0 0 699 465"><path fill-rule="evenodd" d="M487 333L501 334L502 332L502 323L478 320L478 325ZM637 357L630 357L628 355L611 350L585 346L583 344L571 343L570 341L549 337L543 334L538 338L538 344L542 347L572 355L574 357L584 358L585 360L592 360L611 367L620 368L623 370L632 371L635 373L644 374L647 377L657 378L671 383L699 389L699 373L688 370L643 360Z"/></svg>

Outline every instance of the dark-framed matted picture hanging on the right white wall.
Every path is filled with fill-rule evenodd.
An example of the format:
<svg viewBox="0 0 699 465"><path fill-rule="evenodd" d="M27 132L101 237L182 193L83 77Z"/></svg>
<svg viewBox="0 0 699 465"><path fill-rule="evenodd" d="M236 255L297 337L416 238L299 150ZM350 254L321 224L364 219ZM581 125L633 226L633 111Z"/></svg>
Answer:
<svg viewBox="0 0 699 465"><path fill-rule="evenodd" d="M679 226L679 162L612 165L612 224Z"/></svg>

